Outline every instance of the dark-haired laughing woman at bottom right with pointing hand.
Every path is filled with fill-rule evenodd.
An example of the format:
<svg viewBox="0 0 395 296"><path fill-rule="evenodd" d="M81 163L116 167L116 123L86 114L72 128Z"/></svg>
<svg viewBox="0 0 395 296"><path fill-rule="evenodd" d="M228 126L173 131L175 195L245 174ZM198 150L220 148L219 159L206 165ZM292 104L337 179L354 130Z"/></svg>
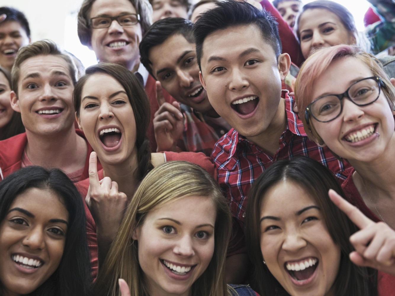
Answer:
<svg viewBox="0 0 395 296"><path fill-rule="evenodd" d="M343 195L333 174L307 157L276 161L254 182L246 211L254 290L268 296L392 295L395 231L336 193Z"/></svg>

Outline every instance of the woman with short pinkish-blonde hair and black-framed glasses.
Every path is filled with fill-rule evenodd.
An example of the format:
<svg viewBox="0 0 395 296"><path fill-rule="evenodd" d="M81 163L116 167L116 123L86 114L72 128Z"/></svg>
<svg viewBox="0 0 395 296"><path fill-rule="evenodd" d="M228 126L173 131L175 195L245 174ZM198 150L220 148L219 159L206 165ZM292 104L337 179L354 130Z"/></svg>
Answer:
<svg viewBox="0 0 395 296"><path fill-rule="evenodd" d="M342 184L346 198L393 229L394 84L374 56L348 45L314 53L295 84L308 137L354 167Z"/></svg>

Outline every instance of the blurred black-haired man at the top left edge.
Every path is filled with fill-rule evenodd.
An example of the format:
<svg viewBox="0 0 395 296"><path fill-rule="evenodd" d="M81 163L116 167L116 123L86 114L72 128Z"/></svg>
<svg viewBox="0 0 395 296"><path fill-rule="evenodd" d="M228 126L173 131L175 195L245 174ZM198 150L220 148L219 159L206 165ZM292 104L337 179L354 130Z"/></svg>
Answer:
<svg viewBox="0 0 395 296"><path fill-rule="evenodd" d="M11 72L19 48L30 43L30 28L21 11L3 6L3 14L6 19L0 22L0 66Z"/></svg>

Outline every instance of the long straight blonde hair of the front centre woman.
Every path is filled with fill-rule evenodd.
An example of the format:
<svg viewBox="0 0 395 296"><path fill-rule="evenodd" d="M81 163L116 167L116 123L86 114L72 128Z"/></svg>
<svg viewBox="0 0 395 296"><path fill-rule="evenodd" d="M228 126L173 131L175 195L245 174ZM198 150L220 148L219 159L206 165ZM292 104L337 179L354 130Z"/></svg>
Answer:
<svg viewBox="0 0 395 296"><path fill-rule="evenodd" d="M131 233L146 215L171 200L186 196L208 196L216 207L214 254L209 266L192 285L191 296L228 295L224 266L231 234L231 215L226 199L213 177L198 165L170 161L154 168L137 188L118 229L117 237L99 268L94 295L117 296L118 279L130 287L131 296L148 296L138 260L138 246Z"/></svg>

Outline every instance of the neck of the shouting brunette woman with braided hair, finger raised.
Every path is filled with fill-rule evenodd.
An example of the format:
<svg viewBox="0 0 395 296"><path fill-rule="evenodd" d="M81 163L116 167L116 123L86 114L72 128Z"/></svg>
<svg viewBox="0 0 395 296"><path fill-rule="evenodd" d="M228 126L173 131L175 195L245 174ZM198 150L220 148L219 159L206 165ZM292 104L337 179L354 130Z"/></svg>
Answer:
<svg viewBox="0 0 395 296"><path fill-rule="evenodd" d="M118 191L123 192L128 197L128 200L132 199L134 191L139 184L139 176L136 171L138 166L137 160L137 148L135 147L129 159L122 161L117 165L108 165L102 163L103 175L109 177L111 181L115 181L118 184Z"/></svg>

